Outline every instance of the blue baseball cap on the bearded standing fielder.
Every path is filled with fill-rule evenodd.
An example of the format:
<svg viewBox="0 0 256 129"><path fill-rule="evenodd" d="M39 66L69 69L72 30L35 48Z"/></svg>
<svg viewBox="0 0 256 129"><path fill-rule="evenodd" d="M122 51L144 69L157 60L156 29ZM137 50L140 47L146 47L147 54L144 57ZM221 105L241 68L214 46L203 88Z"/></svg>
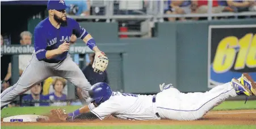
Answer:
<svg viewBox="0 0 256 129"><path fill-rule="evenodd" d="M49 0L47 3L47 10L65 10L66 8L69 8L69 6L66 6L63 0Z"/></svg>

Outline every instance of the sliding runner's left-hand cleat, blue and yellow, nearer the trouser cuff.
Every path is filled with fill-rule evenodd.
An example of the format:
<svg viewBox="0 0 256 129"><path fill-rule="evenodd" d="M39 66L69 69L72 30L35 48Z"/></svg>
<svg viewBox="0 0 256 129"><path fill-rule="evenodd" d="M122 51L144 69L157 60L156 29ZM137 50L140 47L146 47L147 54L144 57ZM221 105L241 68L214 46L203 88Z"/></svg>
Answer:
<svg viewBox="0 0 256 129"><path fill-rule="evenodd" d="M233 78L232 81L230 82L231 85L233 86L234 90L236 91L237 95L246 95L246 96L251 96L251 91L249 90L248 87L244 86L241 84L238 79Z"/></svg>

